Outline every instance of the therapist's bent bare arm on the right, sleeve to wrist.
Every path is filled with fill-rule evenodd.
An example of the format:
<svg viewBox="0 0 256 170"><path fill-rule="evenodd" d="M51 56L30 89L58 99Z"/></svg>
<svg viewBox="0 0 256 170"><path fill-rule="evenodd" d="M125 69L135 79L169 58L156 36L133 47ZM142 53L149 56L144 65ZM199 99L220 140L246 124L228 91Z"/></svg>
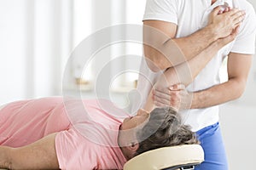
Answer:
<svg viewBox="0 0 256 170"><path fill-rule="evenodd" d="M220 105L241 97L246 88L252 58L252 55L230 53L228 58L229 80L212 88L195 92L191 109Z"/></svg>

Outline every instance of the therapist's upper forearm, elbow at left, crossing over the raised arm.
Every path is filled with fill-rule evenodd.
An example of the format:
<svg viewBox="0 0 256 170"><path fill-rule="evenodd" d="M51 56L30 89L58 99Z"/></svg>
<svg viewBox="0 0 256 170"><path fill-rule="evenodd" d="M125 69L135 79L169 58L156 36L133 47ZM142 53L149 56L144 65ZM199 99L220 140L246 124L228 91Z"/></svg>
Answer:
<svg viewBox="0 0 256 170"><path fill-rule="evenodd" d="M148 66L153 71L165 70L193 59L218 39L212 26L196 31L188 37L172 38L158 35L158 39L162 39L161 42L154 41L156 38L152 37L154 36L144 38L144 43L153 47L144 45L144 54L148 58Z"/></svg>

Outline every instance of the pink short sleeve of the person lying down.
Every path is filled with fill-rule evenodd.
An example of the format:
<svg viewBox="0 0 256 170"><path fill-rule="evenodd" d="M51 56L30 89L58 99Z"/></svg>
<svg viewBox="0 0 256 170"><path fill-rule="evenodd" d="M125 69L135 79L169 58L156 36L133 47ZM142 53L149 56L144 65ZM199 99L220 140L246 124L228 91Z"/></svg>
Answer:
<svg viewBox="0 0 256 170"><path fill-rule="evenodd" d="M96 169L101 151L73 128L56 135L55 150L61 169Z"/></svg>

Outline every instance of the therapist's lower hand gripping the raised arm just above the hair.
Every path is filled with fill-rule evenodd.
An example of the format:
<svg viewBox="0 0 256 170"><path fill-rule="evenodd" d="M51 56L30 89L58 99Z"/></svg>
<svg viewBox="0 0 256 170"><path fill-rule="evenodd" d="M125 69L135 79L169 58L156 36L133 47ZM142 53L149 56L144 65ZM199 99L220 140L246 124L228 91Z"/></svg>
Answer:
<svg viewBox="0 0 256 170"><path fill-rule="evenodd" d="M190 108L193 94L189 93L183 84L175 84L169 88L162 88L158 83L153 90L154 105L158 107L172 107L177 111Z"/></svg>

